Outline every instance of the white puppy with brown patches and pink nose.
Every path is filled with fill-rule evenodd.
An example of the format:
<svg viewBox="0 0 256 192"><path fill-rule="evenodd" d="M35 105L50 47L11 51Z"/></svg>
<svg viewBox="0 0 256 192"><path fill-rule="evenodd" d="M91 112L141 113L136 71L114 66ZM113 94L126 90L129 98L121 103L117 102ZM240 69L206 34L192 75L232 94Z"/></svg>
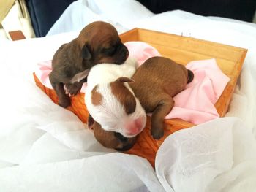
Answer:
<svg viewBox="0 0 256 192"><path fill-rule="evenodd" d="M105 131L135 137L146 126L146 112L129 87L137 62L128 58L124 64L99 64L87 77L86 107L91 117Z"/></svg>

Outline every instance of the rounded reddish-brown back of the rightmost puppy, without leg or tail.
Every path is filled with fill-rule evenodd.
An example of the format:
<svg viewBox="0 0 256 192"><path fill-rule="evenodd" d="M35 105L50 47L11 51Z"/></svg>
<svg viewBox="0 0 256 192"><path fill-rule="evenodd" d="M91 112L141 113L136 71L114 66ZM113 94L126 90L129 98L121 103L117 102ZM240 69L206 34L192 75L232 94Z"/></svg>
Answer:
<svg viewBox="0 0 256 192"><path fill-rule="evenodd" d="M129 83L146 111L154 110L163 94L175 96L188 82L185 66L164 57L149 58L132 76Z"/></svg>

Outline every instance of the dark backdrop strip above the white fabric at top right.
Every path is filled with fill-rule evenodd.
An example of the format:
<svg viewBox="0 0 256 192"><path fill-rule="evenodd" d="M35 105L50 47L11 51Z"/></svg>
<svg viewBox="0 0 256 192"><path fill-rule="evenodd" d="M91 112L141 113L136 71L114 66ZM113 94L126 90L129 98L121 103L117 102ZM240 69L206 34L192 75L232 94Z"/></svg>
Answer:
<svg viewBox="0 0 256 192"><path fill-rule="evenodd" d="M154 13L181 9L197 15L252 22L256 0L137 0Z"/></svg>

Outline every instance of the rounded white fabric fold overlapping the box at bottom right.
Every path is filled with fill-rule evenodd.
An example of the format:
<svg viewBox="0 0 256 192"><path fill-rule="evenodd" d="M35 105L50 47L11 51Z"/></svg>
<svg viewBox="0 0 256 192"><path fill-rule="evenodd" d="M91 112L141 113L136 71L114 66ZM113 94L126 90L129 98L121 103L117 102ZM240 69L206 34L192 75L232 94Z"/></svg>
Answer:
<svg viewBox="0 0 256 192"><path fill-rule="evenodd" d="M256 140L238 118L219 118L171 134L156 158L166 191L255 191Z"/></svg>

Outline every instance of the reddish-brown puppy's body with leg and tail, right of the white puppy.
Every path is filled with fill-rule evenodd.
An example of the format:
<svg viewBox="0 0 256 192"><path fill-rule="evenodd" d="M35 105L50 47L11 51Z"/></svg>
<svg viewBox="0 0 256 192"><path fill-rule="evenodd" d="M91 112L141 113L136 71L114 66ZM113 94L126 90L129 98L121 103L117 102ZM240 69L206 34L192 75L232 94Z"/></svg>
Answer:
<svg viewBox="0 0 256 192"><path fill-rule="evenodd" d="M149 58L132 76L134 83L129 86L144 110L152 112L151 135L154 139L164 135L163 122L173 108L173 96L183 91L193 78L192 71L164 57Z"/></svg>

